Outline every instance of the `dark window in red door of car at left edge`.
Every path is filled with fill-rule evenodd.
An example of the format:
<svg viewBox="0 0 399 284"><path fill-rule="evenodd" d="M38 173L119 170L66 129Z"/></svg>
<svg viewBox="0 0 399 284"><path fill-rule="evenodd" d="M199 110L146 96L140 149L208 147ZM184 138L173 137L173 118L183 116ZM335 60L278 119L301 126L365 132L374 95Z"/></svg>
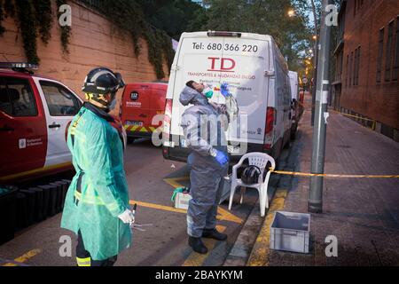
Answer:
<svg viewBox="0 0 399 284"><path fill-rule="evenodd" d="M37 115L35 96L27 79L1 78L0 109L14 117Z"/></svg>

